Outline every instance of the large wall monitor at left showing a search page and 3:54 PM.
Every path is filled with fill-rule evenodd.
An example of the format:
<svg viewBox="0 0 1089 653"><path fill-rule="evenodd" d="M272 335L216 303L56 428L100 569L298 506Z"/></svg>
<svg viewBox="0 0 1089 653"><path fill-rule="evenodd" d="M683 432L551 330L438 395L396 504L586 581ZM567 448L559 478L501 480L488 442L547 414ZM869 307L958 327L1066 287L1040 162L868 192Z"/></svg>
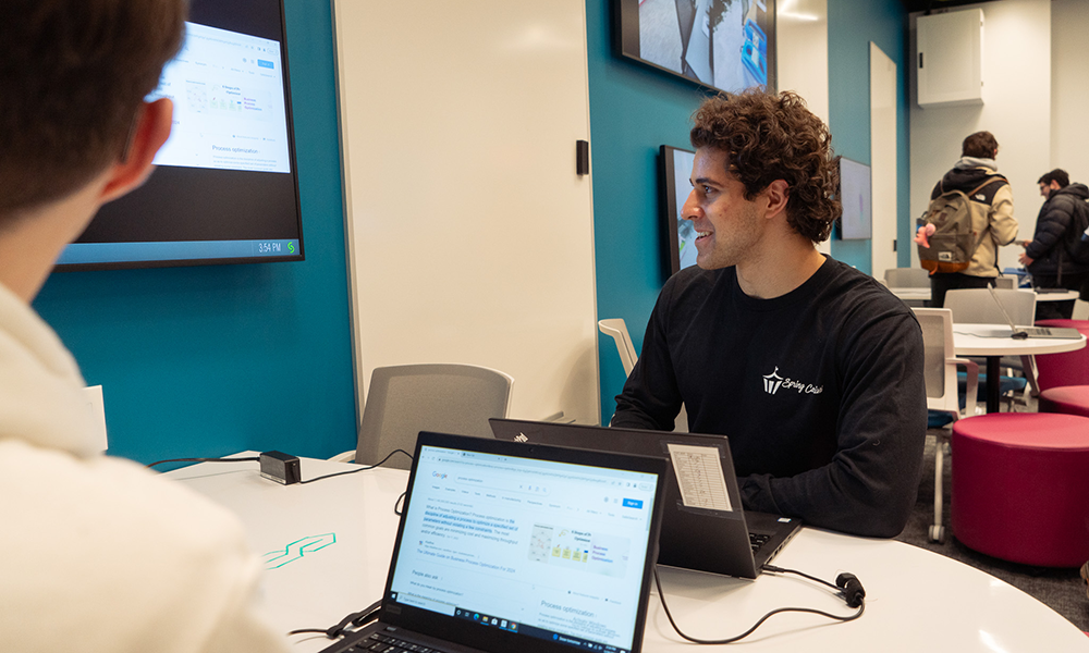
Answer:
<svg viewBox="0 0 1089 653"><path fill-rule="evenodd" d="M174 116L156 170L58 269L303 260L282 0L192 0L160 97Z"/></svg>

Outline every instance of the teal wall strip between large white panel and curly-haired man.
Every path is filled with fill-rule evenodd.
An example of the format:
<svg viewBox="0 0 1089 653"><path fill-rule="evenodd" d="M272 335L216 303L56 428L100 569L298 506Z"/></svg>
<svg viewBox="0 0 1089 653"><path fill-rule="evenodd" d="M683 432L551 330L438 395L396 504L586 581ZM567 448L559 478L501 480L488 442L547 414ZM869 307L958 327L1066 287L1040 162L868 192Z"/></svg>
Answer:
<svg viewBox="0 0 1089 653"><path fill-rule="evenodd" d="M622 60L612 50L611 0L587 0L590 158L598 319L624 318L636 352L665 281L658 205L658 148L690 147L694 84ZM626 379L613 340L599 334L601 420Z"/></svg>

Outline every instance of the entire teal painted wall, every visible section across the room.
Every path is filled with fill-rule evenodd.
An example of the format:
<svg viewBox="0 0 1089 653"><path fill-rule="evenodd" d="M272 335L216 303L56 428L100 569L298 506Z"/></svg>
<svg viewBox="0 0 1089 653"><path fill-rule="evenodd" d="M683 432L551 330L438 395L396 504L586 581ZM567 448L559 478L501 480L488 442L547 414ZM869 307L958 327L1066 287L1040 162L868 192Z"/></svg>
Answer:
<svg viewBox="0 0 1089 653"><path fill-rule="evenodd" d="M694 85L613 56L610 0L587 0L599 318L624 318L636 349L664 281L660 145L685 146ZM326 456L355 442L331 12L286 0L287 48L307 260L302 263L58 273L35 308L106 392L110 453L140 461L280 448ZM829 0L836 150L869 161L868 46L906 78L896 0ZM909 220L906 94L900 121L900 225ZM869 267L869 243L833 254ZM901 250L901 264L909 254ZM600 347L602 419L624 373Z"/></svg>

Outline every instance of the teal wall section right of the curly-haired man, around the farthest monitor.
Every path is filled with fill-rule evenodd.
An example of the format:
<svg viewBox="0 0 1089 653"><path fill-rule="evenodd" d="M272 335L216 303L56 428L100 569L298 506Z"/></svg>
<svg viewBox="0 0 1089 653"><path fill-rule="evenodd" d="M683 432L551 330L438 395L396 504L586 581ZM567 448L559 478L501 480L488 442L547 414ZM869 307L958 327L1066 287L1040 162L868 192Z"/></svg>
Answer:
<svg viewBox="0 0 1089 653"><path fill-rule="evenodd" d="M829 127L837 155L870 163L870 41L896 63L896 257L910 266L907 11L897 0L828 0ZM872 274L870 241L832 241L832 256Z"/></svg>

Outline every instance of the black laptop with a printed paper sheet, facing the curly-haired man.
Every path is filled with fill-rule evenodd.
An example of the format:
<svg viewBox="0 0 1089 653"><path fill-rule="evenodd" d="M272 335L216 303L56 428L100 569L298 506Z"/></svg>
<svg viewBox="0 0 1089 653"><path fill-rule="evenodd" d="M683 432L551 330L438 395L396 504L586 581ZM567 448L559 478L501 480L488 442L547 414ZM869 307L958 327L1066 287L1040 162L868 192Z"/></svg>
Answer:
<svg viewBox="0 0 1089 653"><path fill-rule="evenodd" d="M665 514L659 538L660 565L756 578L760 567L802 528L798 519L742 509L730 442L724 435L513 419L488 421L499 440L669 459Z"/></svg>

